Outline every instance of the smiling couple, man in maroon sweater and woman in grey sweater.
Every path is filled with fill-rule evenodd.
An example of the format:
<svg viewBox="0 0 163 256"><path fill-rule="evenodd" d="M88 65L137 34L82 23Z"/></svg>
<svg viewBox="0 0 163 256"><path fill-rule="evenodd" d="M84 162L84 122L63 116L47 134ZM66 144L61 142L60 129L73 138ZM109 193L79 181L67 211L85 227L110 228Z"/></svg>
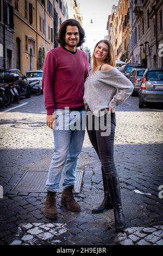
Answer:
<svg viewBox="0 0 163 256"><path fill-rule="evenodd" d="M120 182L114 163L115 108L126 100L133 90L133 85L115 68L112 45L107 40L99 41L92 54L92 70L89 74L87 55L78 50L84 42L85 33L79 22L73 19L62 23L58 42L60 47L47 53L43 65L42 88L47 109L46 124L53 129L53 124L70 124L75 118L76 126L82 126L82 113L86 109L87 132L93 147L101 161L104 185L102 204L92 213L114 209L115 228L117 231L126 227L121 204ZM68 111L65 108L69 108ZM75 117L71 115L76 113ZM96 129L95 120L100 119L103 111L104 123L110 127L109 135L102 136L101 125ZM108 119L108 116L111 116ZM108 120L110 120L108 122ZM91 123L92 129L89 129ZM73 212L80 211L80 205L73 196L76 182L78 156L82 150L84 129L71 129L69 125L62 129L53 129L54 153L49 166L46 182L47 197L45 216L57 218L56 192L59 189L61 174L61 206Z"/></svg>

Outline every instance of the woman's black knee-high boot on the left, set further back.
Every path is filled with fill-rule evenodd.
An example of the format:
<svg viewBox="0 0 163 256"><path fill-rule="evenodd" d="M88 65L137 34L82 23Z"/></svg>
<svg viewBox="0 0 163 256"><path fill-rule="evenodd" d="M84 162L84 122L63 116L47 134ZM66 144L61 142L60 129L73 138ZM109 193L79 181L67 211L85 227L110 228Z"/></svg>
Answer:
<svg viewBox="0 0 163 256"><path fill-rule="evenodd" d="M102 177L103 177L103 186L104 186L104 199L101 205L98 206L98 208L95 208L92 210L92 214L100 214L101 212L104 212L106 210L113 209L111 204L110 192L108 188L108 181L104 173L103 167L102 167Z"/></svg>

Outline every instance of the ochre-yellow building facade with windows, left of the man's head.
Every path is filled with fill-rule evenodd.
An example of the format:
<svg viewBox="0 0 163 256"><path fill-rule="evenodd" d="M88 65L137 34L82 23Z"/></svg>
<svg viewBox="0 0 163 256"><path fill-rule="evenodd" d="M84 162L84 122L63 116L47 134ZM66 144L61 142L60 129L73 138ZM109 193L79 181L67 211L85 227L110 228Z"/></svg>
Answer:
<svg viewBox="0 0 163 256"><path fill-rule="evenodd" d="M42 69L46 52L54 47L53 1L14 2L14 68Z"/></svg>

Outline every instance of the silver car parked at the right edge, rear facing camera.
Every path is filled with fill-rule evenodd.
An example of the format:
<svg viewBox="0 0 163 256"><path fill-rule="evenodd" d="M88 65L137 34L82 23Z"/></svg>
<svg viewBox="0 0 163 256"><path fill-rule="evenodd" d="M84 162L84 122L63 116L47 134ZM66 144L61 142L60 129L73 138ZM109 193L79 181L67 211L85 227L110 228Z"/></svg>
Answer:
<svg viewBox="0 0 163 256"><path fill-rule="evenodd" d="M139 108L144 103L163 103L163 69L146 69L139 91Z"/></svg>

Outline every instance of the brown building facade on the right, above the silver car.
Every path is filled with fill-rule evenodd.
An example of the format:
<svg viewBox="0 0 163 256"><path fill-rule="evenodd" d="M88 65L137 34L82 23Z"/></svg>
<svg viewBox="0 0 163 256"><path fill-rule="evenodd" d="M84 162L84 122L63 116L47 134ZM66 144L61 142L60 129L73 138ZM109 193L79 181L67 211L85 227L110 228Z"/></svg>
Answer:
<svg viewBox="0 0 163 256"><path fill-rule="evenodd" d="M130 53L133 63L163 68L163 1L130 1ZM163 47L162 47L163 48Z"/></svg>

